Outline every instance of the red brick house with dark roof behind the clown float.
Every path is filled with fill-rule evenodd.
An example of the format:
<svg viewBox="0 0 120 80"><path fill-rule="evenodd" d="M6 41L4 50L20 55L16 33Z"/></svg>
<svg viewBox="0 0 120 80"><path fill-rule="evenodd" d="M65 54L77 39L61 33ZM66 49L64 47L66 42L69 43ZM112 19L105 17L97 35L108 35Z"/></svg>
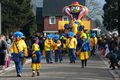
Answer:
<svg viewBox="0 0 120 80"><path fill-rule="evenodd" d="M43 0L44 33L58 32L58 21L68 20L62 13L63 7L78 1L85 5L85 0Z"/></svg>

